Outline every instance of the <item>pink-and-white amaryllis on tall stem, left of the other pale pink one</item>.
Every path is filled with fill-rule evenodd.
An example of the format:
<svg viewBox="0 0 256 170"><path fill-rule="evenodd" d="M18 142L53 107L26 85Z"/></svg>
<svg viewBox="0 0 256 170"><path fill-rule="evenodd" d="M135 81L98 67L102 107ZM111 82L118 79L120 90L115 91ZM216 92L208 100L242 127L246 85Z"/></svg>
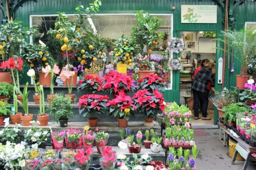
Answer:
<svg viewBox="0 0 256 170"><path fill-rule="evenodd" d="M55 94L53 92L54 77L55 77L55 74L59 74L60 69L56 64L53 66L53 68L51 68L50 65L47 65L45 68L42 68L42 72L44 73L44 77L47 77L47 75L50 74L51 88L50 88L50 94L47 95L47 99L49 101L49 104L51 104L52 99L55 98Z"/></svg>

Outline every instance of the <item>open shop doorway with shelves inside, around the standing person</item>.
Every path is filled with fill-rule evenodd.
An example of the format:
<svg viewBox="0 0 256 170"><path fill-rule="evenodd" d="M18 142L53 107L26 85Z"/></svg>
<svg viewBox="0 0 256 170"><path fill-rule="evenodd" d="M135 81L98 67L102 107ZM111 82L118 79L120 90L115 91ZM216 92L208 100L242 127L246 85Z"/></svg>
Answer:
<svg viewBox="0 0 256 170"><path fill-rule="evenodd" d="M185 48L180 54L180 104L186 104L186 99L191 96L191 85L195 70L201 66L203 59L216 62L216 32L215 31L180 31L180 37L185 42ZM201 111L200 111L201 112ZM214 121L214 105L209 100L208 117L211 120L194 119L192 111L193 126L211 126ZM202 113L199 113L202 117Z"/></svg>

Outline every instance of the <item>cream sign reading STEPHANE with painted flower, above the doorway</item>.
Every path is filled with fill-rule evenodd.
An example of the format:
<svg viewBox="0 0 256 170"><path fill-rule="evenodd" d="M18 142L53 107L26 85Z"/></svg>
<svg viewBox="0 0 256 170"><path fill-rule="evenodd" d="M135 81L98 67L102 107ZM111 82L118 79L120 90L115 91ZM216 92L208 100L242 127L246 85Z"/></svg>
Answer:
<svg viewBox="0 0 256 170"><path fill-rule="evenodd" d="M181 23L217 23L217 6L181 5Z"/></svg>

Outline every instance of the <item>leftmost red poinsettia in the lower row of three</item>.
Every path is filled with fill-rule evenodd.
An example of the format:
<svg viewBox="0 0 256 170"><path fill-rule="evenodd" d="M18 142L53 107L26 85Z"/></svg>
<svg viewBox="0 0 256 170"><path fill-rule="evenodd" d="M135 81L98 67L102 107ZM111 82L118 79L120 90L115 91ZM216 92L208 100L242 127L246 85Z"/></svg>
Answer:
<svg viewBox="0 0 256 170"><path fill-rule="evenodd" d="M108 96L97 94L86 94L79 97L79 113L88 119L95 119L96 114L104 113Z"/></svg>

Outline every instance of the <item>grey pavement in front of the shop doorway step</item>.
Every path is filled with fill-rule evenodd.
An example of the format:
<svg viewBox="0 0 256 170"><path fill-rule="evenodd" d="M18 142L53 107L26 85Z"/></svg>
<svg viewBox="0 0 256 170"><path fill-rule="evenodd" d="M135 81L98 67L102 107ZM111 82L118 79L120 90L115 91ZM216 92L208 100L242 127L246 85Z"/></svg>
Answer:
<svg viewBox="0 0 256 170"><path fill-rule="evenodd" d="M228 156L229 147L224 147L218 140L218 129L203 129L196 134L195 142L200 149L196 159L198 170L241 170L244 161L235 161L231 165L232 159ZM254 163L254 165L253 165ZM256 170L256 164L250 161L247 170Z"/></svg>

